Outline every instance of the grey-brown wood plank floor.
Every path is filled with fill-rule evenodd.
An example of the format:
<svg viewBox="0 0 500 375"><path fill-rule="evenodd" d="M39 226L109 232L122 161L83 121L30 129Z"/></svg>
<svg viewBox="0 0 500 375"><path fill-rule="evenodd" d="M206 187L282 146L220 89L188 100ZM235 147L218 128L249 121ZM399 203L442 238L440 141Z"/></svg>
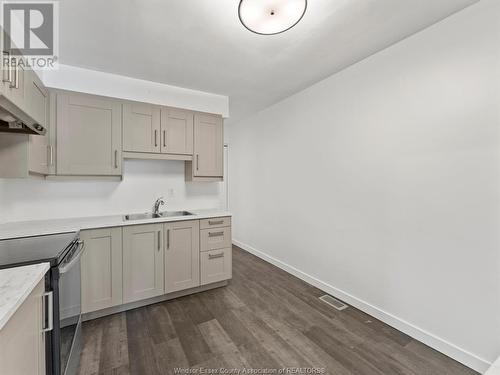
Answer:
<svg viewBox="0 0 500 375"><path fill-rule="evenodd" d="M227 287L84 323L80 374L163 375L176 368L476 374L355 308L333 309L318 299L320 290L233 249Z"/></svg>

